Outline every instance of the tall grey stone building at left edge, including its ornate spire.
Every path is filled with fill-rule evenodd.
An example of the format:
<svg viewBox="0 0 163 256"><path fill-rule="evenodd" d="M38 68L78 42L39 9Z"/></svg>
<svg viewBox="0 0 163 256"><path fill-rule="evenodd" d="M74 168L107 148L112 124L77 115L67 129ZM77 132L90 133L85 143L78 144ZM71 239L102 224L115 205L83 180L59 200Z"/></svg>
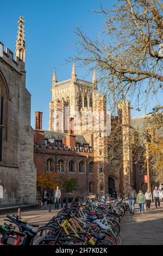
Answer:
<svg viewBox="0 0 163 256"><path fill-rule="evenodd" d="M16 59L7 48L0 57L0 186L1 205L36 203L36 167L31 95L26 88L24 21L20 17ZM4 46L0 42L3 50Z"/></svg>

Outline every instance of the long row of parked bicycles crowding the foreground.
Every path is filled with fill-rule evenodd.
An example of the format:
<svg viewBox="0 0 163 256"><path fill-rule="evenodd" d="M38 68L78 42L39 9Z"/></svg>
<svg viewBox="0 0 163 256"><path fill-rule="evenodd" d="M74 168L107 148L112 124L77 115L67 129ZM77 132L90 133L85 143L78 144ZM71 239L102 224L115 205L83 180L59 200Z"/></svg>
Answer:
<svg viewBox="0 0 163 256"><path fill-rule="evenodd" d="M128 209L123 198L90 195L43 227L7 215L0 225L0 245L122 245L120 223Z"/></svg>

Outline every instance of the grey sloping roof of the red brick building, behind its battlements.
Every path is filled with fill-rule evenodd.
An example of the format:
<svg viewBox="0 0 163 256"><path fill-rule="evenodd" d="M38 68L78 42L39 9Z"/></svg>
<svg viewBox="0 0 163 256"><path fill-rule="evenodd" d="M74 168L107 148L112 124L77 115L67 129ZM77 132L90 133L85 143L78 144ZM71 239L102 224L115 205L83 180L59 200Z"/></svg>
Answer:
<svg viewBox="0 0 163 256"><path fill-rule="evenodd" d="M66 132L44 131L44 137L45 138L55 139L57 141L62 141L62 138L64 138L66 135L67 135ZM76 136L76 142L77 143L89 144L89 143L87 143L87 141L85 140L83 135L75 135L75 136Z"/></svg>

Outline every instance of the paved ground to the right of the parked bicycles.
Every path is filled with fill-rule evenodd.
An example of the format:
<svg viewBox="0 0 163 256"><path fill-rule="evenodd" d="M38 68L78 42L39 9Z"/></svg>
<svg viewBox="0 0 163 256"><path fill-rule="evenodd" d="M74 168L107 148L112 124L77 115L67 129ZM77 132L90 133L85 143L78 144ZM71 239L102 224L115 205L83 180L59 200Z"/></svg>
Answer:
<svg viewBox="0 0 163 256"><path fill-rule="evenodd" d="M163 203L160 209L155 209L152 203L151 209L145 214L139 214L139 208L135 209L135 215L129 212L121 221L121 237L123 245L163 245Z"/></svg>

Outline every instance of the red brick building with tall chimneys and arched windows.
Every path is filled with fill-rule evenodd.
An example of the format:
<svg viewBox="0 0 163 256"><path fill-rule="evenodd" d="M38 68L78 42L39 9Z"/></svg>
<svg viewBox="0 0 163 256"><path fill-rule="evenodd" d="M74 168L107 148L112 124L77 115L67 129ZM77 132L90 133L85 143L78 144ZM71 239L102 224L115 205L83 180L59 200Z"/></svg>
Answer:
<svg viewBox="0 0 163 256"><path fill-rule="evenodd" d="M57 172L62 178L64 176L68 179L77 178L77 191L68 193L73 196L97 192L95 186L97 163L94 162L93 148L86 142L84 136L44 131L42 113L35 112L35 116L34 162L37 172Z"/></svg>

